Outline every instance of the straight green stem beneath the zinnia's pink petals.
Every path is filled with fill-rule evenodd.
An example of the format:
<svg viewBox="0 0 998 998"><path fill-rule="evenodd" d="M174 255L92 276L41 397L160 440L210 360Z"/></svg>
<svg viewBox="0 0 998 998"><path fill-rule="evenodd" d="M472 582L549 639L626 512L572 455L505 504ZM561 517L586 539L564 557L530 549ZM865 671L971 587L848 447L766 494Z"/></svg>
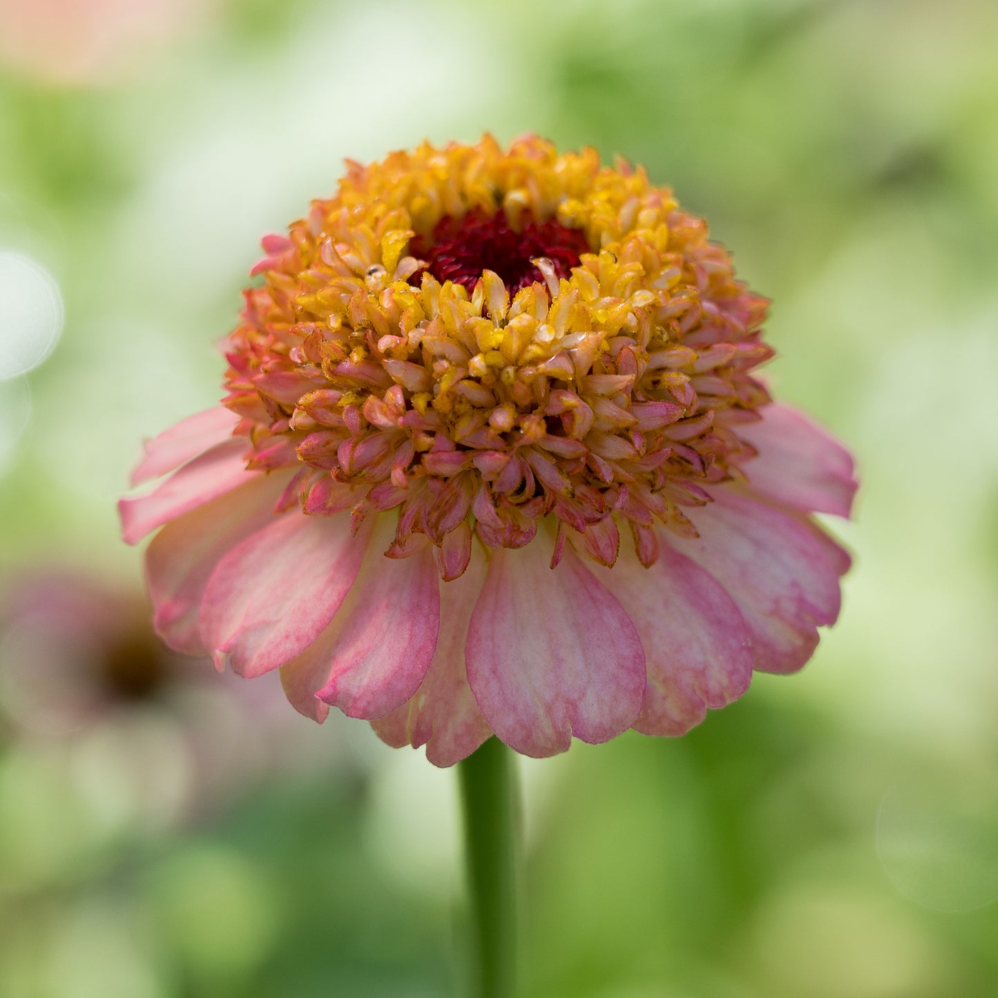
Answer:
<svg viewBox="0 0 998 998"><path fill-rule="evenodd" d="M516 978L519 795L498 739L458 763L471 909L471 998L511 998Z"/></svg>

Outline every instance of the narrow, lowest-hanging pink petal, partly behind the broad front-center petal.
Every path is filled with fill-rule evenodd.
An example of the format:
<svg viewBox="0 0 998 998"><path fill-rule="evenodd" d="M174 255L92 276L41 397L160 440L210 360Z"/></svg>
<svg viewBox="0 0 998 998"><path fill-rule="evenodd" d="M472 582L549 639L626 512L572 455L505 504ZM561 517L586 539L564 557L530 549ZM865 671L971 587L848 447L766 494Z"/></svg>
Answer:
<svg viewBox="0 0 998 998"><path fill-rule="evenodd" d="M440 636L426 678L408 703L371 724L394 749L425 745L434 765L453 765L492 734L464 666L468 622L484 579L485 558L476 546L464 575L440 585Z"/></svg>

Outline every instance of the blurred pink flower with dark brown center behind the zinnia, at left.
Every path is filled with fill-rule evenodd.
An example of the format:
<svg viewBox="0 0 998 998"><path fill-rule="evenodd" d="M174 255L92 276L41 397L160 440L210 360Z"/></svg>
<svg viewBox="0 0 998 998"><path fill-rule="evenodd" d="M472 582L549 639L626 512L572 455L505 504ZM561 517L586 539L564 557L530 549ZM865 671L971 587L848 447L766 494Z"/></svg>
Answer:
<svg viewBox="0 0 998 998"><path fill-rule="evenodd" d="M145 768L130 780L159 781L182 808L215 803L292 761L301 747L288 744L286 711L265 690L213 682L209 663L167 648L149 615L141 593L79 571L9 577L0 587L0 718L11 736L71 751L88 740L110 746ZM151 744L176 750L151 759Z"/></svg>

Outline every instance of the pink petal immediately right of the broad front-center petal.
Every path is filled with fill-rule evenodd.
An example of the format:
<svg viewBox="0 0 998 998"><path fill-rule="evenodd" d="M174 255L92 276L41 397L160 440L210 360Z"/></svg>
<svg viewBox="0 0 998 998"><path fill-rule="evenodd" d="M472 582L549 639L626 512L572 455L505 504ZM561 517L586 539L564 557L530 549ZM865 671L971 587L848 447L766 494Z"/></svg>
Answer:
<svg viewBox="0 0 998 998"><path fill-rule="evenodd" d="M683 735L707 708L741 697L751 680L749 631L739 608L710 573L660 537L645 568L630 545L612 569L593 574L627 607L645 648L648 685L634 728Z"/></svg>

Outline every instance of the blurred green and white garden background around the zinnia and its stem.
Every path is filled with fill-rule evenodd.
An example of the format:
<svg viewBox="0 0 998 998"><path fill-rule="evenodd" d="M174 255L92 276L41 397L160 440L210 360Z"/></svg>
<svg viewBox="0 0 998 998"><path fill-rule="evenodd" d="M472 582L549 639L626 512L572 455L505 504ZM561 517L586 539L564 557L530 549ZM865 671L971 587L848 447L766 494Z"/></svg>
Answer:
<svg viewBox="0 0 998 998"><path fill-rule="evenodd" d="M524 763L524 996L998 994L996 50L992 0L0 0L0 995L459 995L454 773L170 656L114 503L259 237L485 130L707 216L863 479L800 675Z"/></svg>

